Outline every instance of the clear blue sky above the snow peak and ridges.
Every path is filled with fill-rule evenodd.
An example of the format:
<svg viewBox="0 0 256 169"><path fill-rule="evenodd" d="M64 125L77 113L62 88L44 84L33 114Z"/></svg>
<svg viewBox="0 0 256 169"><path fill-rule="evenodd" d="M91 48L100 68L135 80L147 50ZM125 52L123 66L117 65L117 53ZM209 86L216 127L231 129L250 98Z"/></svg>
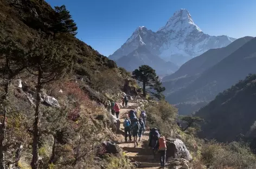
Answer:
<svg viewBox="0 0 256 169"><path fill-rule="evenodd" d="M78 37L99 53L114 53L138 26L157 31L175 11L188 9L209 35L256 36L256 0L46 0L66 5Z"/></svg>

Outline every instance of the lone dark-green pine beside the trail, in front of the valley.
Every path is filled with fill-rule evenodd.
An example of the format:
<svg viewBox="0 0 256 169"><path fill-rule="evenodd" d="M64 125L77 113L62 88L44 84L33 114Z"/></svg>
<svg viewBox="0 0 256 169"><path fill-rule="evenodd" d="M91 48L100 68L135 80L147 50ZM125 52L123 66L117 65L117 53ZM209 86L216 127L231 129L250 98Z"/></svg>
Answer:
<svg viewBox="0 0 256 169"><path fill-rule="evenodd" d="M162 87L162 82L159 81L159 77L156 75L156 70L152 69L148 65L142 65L139 69L135 69L132 72L132 77L143 83L143 96L146 94L156 97L161 100L164 99L165 88ZM152 92L153 90L156 91Z"/></svg>

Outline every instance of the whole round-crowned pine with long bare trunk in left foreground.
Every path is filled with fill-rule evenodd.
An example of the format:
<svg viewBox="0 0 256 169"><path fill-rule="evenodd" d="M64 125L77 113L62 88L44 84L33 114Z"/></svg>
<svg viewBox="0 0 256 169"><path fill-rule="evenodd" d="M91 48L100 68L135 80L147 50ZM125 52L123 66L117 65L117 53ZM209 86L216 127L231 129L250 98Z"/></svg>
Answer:
<svg viewBox="0 0 256 169"><path fill-rule="evenodd" d="M37 38L28 42L25 62L27 70L37 77L35 119L33 124L33 158L31 167L38 167L39 121L41 89L44 85L61 78L71 62L71 51L60 42Z"/></svg>

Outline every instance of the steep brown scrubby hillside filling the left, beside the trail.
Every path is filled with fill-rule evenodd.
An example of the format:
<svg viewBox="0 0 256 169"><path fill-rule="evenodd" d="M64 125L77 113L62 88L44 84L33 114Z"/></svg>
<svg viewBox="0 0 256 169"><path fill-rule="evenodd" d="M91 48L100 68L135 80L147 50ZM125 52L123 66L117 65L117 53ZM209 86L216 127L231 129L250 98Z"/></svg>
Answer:
<svg viewBox="0 0 256 169"><path fill-rule="evenodd" d="M54 22L45 1L0 1L0 167L130 169L121 152L101 154L117 132L108 101L121 99L129 73L71 33L54 34Z"/></svg>

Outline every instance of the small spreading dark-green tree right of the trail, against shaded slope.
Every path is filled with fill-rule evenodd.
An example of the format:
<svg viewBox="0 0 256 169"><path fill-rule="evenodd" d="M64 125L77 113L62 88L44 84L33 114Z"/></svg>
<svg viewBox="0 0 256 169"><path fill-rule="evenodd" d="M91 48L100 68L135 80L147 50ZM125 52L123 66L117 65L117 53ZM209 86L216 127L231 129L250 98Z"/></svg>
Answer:
<svg viewBox="0 0 256 169"><path fill-rule="evenodd" d="M185 122L187 125L183 131L186 131L189 127L196 128L197 130L200 129L200 123L204 120L197 116L179 116L179 119Z"/></svg>

